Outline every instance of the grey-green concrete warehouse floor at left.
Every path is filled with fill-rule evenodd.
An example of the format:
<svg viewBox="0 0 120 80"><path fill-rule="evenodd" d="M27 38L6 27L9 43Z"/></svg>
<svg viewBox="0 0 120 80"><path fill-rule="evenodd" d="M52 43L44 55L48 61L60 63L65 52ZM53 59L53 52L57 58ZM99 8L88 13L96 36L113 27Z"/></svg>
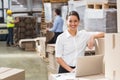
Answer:
<svg viewBox="0 0 120 80"><path fill-rule="evenodd" d="M24 69L25 80L48 80L47 65L36 52L6 47L5 42L0 41L0 67Z"/></svg>

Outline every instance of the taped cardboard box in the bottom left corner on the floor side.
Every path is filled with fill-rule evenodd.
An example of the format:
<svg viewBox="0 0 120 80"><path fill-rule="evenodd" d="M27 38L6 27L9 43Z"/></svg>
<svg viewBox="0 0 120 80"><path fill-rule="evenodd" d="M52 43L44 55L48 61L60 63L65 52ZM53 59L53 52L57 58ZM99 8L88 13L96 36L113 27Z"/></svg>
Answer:
<svg viewBox="0 0 120 80"><path fill-rule="evenodd" d="M25 80L25 71L15 68L0 68L0 80Z"/></svg>

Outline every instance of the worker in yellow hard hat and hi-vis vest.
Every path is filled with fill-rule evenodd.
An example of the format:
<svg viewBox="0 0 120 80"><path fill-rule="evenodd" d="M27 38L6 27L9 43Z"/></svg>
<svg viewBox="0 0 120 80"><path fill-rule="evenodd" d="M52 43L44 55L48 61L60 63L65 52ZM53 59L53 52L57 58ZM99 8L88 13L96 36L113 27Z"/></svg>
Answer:
<svg viewBox="0 0 120 80"><path fill-rule="evenodd" d="M18 18L14 19L12 17L12 11L7 10L7 20L6 21L7 21L7 28L8 28L8 36L7 36L6 45L11 46L11 45L14 45L13 28L15 27L15 23L19 22L19 19Z"/></svg>

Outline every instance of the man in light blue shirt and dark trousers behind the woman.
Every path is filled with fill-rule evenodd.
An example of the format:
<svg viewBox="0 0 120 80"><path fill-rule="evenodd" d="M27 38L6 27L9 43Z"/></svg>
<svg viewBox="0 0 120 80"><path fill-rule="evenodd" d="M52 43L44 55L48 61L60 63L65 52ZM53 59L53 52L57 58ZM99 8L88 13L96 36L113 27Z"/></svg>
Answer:
<svg viewBox="0 0 120 80"><path fill-rule="evenodd" d="M60 35L63 32L63 19L61 17L61 11L60 9L55 9L54 11L55 19L53 23L52 28L47 28L47 31L54 32L54 37L48 41L47 43L56 43L56 39L58 35Z"/></svg>

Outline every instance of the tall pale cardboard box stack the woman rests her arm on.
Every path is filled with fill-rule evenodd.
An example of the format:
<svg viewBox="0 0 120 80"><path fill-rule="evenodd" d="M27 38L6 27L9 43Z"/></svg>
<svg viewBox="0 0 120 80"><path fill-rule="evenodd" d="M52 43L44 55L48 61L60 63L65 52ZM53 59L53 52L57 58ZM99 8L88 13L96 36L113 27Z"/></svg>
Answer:
<svg viewBox="0 0 120 80"><path fill-rule="evenodd" d="M120 33L105 35L105 76L119 80L120 75Z"/></svg>

